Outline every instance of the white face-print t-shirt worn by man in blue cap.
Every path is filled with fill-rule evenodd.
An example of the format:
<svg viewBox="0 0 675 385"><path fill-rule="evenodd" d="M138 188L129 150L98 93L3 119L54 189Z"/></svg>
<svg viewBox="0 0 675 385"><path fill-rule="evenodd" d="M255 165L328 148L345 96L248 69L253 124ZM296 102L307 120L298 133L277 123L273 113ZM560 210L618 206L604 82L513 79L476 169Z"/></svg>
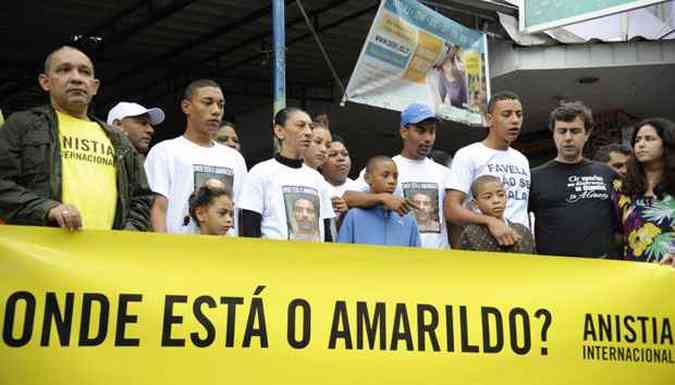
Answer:
<svg viewBox="0 0 675 385"><path fill-rule="evenodd" d="M415 210L415 220L420 232L422 247L447 249L448 228L445 224L443 201L449 185L449 169L429 158L412 160L396 155L392 158L398 169L398 185L394 195L413 200L420 210ZM361 170L358 191L368 191L364 180L365 169Z"/></svg>

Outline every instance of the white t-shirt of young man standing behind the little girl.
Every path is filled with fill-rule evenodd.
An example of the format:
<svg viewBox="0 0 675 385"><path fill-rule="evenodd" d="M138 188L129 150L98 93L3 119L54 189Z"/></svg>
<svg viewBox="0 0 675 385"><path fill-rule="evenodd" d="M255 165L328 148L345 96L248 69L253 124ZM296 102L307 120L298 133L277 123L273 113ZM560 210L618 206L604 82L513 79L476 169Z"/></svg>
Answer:
<svg viewBox="0 0 675 385"><path fill-rule="evenodd" d="M197 145L183 136L158 143L148 153L145 172L152 191L169 201L166 228L169 233L193 233L195 224L184 226L188 215L188 198L211 179L225 183L235 205L246 177L246 162L241 154L227 146L213 143L210 147ZM230 230L236 234L235 226Z"/></svg>

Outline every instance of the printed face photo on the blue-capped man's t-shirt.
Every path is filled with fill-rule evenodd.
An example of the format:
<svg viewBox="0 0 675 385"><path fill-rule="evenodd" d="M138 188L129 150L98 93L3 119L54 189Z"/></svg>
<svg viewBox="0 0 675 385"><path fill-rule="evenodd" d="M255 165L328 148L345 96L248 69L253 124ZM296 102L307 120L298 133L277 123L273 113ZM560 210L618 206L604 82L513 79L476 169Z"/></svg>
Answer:
<svg viewBox="0 0 675 385"><path fill-rule="evenodd" d="M438 213L438 184L403 183L403 196L417 207L415 220L420 233L440 233L441 221Z"/></svg>

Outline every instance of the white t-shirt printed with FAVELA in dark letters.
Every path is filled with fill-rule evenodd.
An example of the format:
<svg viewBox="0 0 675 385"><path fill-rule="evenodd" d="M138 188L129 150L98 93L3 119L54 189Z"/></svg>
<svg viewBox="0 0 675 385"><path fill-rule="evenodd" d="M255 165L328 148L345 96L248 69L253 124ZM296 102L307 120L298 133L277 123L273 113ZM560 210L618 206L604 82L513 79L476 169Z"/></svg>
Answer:
<svg viewBox="0 0 675 385"><path fill-rule="evenodd" d="M482 175L494 175L504 182L508 194L504 217L530 228L527 201L530 195L530 163L520 151L494 150L481 142L460 148L452 160L450 188L472 198L471 183Z"/></svg>

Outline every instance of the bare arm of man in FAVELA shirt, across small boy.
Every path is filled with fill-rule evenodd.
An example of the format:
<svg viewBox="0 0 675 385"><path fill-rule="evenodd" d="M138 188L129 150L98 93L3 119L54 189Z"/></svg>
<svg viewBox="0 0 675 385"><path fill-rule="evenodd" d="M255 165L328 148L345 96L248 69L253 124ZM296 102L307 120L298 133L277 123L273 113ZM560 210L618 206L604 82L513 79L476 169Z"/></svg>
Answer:
<svg viewBox="0 0 675 385"><path fill-rule="evenodd" d="M445 194L443 206L445 217L458 225L475 223L485 225L490 230L490 234L497 240L500 246L511 246L517 240L518 236L504 221L484 214L475 213L464 207L465 194L458 190L448 190Z"/></svg>

